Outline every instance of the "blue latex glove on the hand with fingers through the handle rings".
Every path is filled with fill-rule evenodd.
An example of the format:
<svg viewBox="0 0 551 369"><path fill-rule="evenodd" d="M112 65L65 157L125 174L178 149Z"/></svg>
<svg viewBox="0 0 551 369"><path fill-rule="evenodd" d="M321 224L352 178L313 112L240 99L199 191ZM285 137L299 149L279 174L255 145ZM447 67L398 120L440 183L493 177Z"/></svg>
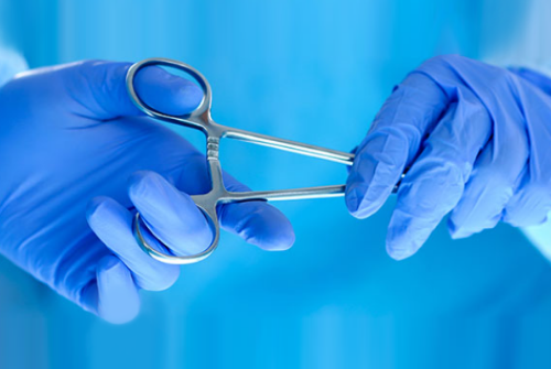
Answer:
<svg viewBox="0 0 551 369"><path fill-rule="evenodd" d="M204 250L213 237L187 195L209 189L205 158L140 117L126 91L128 67L83 62L36 69L0 90L0 252L115 323L137 315L140 289L166 289L180 273L138 247L134 208L176 254ZM194 84L158 68L141 72L137 89L173 115L202 99ZM225 181L246 189L229 175ZM224 206L220 223L263 249L294 241L288 219L263 202Z"/></svg>

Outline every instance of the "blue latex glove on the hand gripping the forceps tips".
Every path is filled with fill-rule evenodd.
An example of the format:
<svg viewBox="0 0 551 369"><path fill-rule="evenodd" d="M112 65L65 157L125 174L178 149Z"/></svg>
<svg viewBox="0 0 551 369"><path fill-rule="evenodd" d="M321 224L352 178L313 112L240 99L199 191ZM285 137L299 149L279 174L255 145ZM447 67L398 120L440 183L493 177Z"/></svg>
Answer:
<svg viewBox="0 0 551 369"><path fill-rule="evenodd" d="M451 211L453 238L544 221L551 209L551 80L461 56L432 58L382 106L347 183L350 213L377 211L400 175L387 234L413 254Z"/></svg>

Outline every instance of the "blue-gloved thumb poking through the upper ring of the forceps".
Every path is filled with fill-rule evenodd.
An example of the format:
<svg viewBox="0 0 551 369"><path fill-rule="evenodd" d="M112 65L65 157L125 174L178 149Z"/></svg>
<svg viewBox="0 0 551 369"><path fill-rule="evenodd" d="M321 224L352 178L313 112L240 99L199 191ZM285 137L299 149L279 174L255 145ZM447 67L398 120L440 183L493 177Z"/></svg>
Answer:
<svg viewBox="0 0 551 369"><path fill-rule="evenodd" d="M97 120L142 115L127 91L130 66L130 63L87 61L60 69L71 91L72 111ZM196 84L155 66L141 69L134 86L145 104L166 115L190 113L203 99Z"/></svg>

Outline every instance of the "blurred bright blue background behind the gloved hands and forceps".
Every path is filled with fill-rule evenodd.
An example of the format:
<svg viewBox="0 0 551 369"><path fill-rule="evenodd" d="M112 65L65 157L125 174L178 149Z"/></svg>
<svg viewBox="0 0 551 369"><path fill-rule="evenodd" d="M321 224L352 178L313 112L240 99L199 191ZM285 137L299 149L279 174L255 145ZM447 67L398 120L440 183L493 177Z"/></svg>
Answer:
<svg viewBox="0 0 551 369"><path fill-rule="evenodd" d="M529 1L0 0L4 43L31 67L163 56L203 72L225 124L350 150L408 70L486 58ZM202 144L201 137L182 134ZM223 143L256 189L338 184L338 164ZM0 261L1 368L549 368L551 269L512 228L413 258L385 252L392 200L367 220L342 199L278 204L296 243L268 253L225 234L132 323L89 315ZM84 215L83 215L84 216Z"/></svg>

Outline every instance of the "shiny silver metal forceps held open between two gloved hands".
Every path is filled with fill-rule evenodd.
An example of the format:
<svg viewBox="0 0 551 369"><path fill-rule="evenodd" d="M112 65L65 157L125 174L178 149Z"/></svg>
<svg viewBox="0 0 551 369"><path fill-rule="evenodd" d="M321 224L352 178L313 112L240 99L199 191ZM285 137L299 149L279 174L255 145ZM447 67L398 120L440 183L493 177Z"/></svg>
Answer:
<svg viewBox="0 0 551 369"><path fill-rule="evenodd" d="M138 96L134 89L134 78L137 73L141 68L152 65L172 67L185 72L187 75L192 76L203 89L204 96L201 105L192 113L185 116L170 116L161 111L158 111L148 106L145 102L143 102L143 100L141 100L141 98ZM206 194L192 196L192 199L195 202L195 205L197 205L197 207L206 216L207 220L210 224L210 227L213 227L214 229L213 241L210 242L207 249L192 256L173 256L163 253L161 251L155 250L151 245L148 243L148 241L143 237L143 231L142 231L143 223L140 219L140 214L137 213L132 226L134 237L140 247L143 249L143 251L149 253L152 258L170 264L188 264L207 258L216 249L220 236L218 215L216 213L216 206L219 204L227 204L234 202L248 202L248 200L285 200L285 199L325 198L325 197L344 196L345 192L344 185L306 187L296 189L278 189L278 191L251 191L251 192L227 191L226 187L224 186L224 181L222 177L222 166L218 160L218 149L220 139L235 139L279 150L290 151L302 155L320 158L346 165L353 164L354 154L329 150L325 148L313 146L305 143L277 139L270 135L248 132L240 129L216 123L210 117L210 101L212 101L210 85L197 69L177 61L172 61L168 58L148 58L142 62L136 63L130 67L130 69L128 69L126 84L130 99L141 111L143 111L148 116L169 123L197 129L206 135L206 144L207 144L206 160L208 163L207 167L210 175L212 188ZM150 234L153 235L151 230ZM155 236L153 235L153 237ZM162 242L158 237L155 238L161 245L170 249L169 246Z"/></svg>

